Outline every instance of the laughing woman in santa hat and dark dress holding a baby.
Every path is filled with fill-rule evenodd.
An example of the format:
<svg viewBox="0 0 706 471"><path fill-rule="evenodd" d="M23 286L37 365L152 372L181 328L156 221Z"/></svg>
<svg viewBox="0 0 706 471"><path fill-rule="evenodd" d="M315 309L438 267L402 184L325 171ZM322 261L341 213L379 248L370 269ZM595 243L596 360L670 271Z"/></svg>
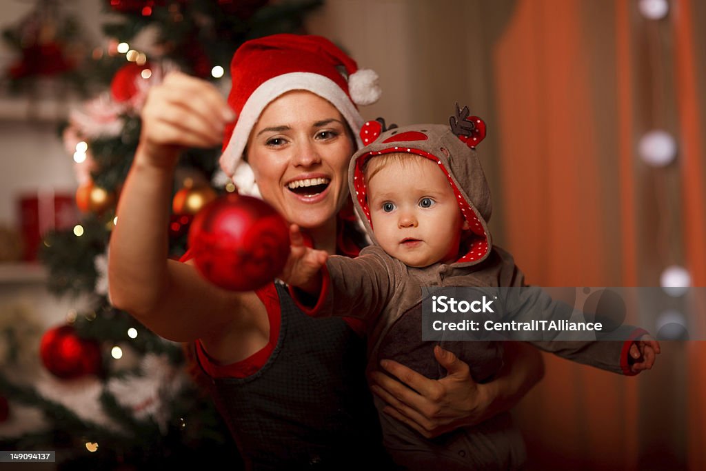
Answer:
<svg viewBox="0 0 706 471"><path fill-rule="evenodd" d="M318 249L354 256L359 233L345 217L347 165L360 145L352 132L363 122L356 105L376 99L375 76L328 40L295 35L246 42L231 73L227 102L212 85L180 73L150 91L112 235L112 302L164 338L196 340L249 467L384 462L363 377L362 326L307 318L275 282L227 292L191 263L167 259L179 151L220 142L222 168L239 191L261 194ZM503 374L484 385L453 354L437 359L449 373L439 381L395 363L385 364L389 375L371 377L387 412L429 437L507 410L542 376L539 354L520 344L508 348Z"/></svg>

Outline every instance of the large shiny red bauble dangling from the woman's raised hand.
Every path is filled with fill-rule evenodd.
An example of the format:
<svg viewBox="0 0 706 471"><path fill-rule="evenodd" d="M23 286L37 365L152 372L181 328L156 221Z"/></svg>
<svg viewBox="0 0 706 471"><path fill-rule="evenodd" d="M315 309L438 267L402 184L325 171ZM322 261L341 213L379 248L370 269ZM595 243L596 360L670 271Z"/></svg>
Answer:
<svg viewBox="0 0 706 471"><path fill-rule="evenodd" d="M289 225L265 201L229 193L193 218L189 246L207 280L226 290L252 291L282 272Z"/></svg>

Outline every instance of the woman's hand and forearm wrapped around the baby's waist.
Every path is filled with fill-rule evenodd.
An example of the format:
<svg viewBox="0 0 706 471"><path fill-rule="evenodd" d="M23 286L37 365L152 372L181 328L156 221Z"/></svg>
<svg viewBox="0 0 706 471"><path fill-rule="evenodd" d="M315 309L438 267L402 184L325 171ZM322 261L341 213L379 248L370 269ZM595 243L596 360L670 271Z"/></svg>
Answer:
<svg viewBox="0 0 706 471"><path fill-rule="evenodd" d="M379 371L371 374L373 393L388 403L383 412L426 438L509 410L544 376L542 354L524 342L505 342L503 368L485 384L473 381L468 365L453 353L436 347L434 354L448 371L439 380L391 360L383 360L381 366L399 381Z"/></svg>

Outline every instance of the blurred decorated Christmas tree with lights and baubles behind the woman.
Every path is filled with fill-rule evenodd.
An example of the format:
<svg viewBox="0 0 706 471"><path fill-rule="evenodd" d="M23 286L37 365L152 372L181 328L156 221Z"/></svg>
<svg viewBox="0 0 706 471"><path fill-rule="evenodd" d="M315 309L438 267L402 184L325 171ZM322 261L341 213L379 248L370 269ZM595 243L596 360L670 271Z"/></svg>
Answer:
<svg viewBox="0 0 706 471"><path fill-rule="evenodd" d="M1 434L0 449L56 451L57 467L71 470L223 460L237 468L237 448L213 403L187 371L189 350L157 337L110 304L109 237L150 87L169 71L180 70L214 81L225 94L228 64L239 44L276 32L301 32L304 16L321 0L100 1L110 13L103 25L107 44L94 49L83 65L52 69L78 77L81 89L90 94L60 129L75 162L81 219L72 229L44 234L40 246L49 289L57 296L89 301L42 333L39 380L23 371L21 359L12 354L17 342L8 339L17 340L18 323L0 331L0 342L6 340L0 362L0 426L16 408L35 410L39 417L37 427ZM37 5L56 8L48 0ZM71 32L65 33L70 39ZM22 68L15 66L11 79L14 85L26 84L41 51L21 49L26 42L13 31L4 36L21 56ZM52 44L54 58L61 44L58 39ZM39 59L32 59L35 52ZM181 157L169 225L174 258L186 249L193 215L234 190L217 169L219 155L220 148L191 149Z"/></svg>

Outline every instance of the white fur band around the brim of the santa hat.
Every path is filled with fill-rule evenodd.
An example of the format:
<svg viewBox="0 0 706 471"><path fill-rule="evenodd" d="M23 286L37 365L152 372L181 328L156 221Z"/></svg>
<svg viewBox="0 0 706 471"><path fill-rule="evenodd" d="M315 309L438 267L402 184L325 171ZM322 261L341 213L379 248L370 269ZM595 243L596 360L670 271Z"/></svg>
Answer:
<svg viewBox="0 0 706 471"><path fill-rule="evenodd" d="M260 118L263 109L280 95L292 90L307 90L328 100L342 114L353 131L358 147L362 147L358 131L363 125L363 118L356 109L348 95L330 78L318 73L292 72L270 78L263 82L250 95L238 117L238 122L233 130L233 135L223 150L220 157L220 166L230 175L238 191L243 194L256 194L260 192L254 181L253 171L243 160L243 150L250 131ZM243 167L241 169L241 167Z"/></svg>

